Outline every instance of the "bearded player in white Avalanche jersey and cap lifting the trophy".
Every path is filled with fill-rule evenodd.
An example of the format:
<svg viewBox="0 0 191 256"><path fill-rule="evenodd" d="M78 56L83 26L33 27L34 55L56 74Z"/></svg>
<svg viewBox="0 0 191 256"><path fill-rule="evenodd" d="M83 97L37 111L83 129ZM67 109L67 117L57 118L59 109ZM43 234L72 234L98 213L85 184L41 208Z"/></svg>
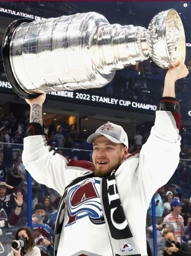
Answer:
<svg viewBox="0 0 191 256"><path fill-rule="evenodd" d="M140 152L128 155L124 129L106 123L87 140L93 143L93 164L68 161L51 151L42 121L45 94L26 100L31 123L24 139L23 164L37 182L63 195L55 256L147 255L147 208L179 163L180 105L175 81L186 75L188 69L181 62L167 71L155 125Z"/></svg>

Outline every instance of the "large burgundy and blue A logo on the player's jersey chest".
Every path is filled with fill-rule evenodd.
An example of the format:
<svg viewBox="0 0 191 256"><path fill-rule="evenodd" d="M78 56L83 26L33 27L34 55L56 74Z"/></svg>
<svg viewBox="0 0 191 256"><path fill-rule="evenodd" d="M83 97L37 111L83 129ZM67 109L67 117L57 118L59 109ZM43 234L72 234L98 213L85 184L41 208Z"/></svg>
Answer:
<svg viewBox="0 0 191 256"><path fill-rule="evenodd" d="M68 190L67 207L69 220L66 226L72 225L76 220L86 216L89 216L90 221L94 224L105 223L96 185L100 186L100 179L91 178Z"/></svg>

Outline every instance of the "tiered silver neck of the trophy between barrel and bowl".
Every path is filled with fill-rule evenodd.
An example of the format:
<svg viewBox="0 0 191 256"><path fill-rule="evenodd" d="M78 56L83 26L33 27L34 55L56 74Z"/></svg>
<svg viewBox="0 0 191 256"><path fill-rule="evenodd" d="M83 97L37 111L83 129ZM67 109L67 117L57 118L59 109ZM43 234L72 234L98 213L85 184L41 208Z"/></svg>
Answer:
<svg viewBox="0 0 191 256"><path fill-rule="evenodd" d="M110 74L149 58L147 30L133 25L102 24L92 38L93 58L102 74Z"/></svg>

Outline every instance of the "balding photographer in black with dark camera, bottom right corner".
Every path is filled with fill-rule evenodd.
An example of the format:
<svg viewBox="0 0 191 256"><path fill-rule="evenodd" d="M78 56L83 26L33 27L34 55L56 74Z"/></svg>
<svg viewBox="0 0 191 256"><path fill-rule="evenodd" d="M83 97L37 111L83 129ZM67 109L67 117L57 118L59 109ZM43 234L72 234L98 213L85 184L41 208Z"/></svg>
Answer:
<svg viewBox="0 0 191 256"><path fill-rule="evenodd" d="M191 248L187 243L177 242L177 238L173 232L167 232L164 235L166 249L164 250L164 256L191 256Z"/></svg>

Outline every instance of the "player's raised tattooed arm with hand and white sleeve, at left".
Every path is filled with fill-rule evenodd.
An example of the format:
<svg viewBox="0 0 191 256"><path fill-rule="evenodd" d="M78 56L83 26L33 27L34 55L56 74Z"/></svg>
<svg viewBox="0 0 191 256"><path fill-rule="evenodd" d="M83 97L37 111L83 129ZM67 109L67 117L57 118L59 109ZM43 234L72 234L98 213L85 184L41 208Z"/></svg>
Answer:
<svg viewBox="0 0 191 256"><path fill-rule="evenodd" d="M31 107L31 114L25 132L22 160L34 180L63 195L69 182L87 171L82 168L78 170L77 167L76 170L67 168L68 160L47 145L47 130L42 126L42 105L45 97L45 93L42 93L35 99L26 100Z"/></svg>

